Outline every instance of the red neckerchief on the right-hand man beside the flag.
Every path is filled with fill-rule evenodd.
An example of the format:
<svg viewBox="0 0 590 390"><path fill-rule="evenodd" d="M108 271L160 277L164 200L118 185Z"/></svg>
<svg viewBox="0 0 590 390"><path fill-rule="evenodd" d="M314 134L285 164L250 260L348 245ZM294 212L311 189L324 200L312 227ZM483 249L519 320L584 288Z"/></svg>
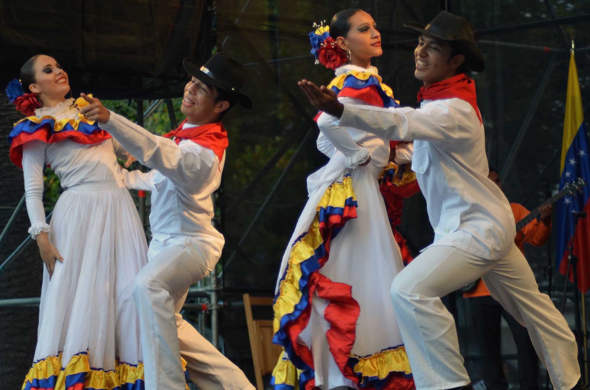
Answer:
<svg viewBox="0 0 590 390"><path fill-rule="evenodd" d="M420 88L418 101L460 98L471 104L476 110L477 118L481 121L481 114L477 108L476 83L465 74L458 74L447 80L433 82L428 87Z"/></svg>

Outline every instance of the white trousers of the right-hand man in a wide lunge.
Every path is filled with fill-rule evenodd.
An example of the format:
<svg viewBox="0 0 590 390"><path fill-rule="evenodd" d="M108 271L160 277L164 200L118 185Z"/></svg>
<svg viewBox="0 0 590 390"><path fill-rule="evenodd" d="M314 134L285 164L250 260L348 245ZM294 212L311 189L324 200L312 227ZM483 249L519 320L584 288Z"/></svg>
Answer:
<svg viewBox="0 0 590 390"><path fill-rule="evenodd" d="M418 390L470 383L459 353L457 329L441 296L482 277L491 296L529 330L556 390L580 379L578 347L563 316L539 292L525 256L513 245L500 260L451 246L434 246L414 259L391 285L391 299Z"/></svg>

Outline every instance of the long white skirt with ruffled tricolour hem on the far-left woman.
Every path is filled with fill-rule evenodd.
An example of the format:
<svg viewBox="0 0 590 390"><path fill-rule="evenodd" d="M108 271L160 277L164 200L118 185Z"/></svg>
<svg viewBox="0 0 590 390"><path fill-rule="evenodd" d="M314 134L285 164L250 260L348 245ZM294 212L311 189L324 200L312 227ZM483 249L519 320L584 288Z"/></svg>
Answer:
<svg viewBox="0 0 590 390"><path fill-rule="evenodd" d="M67 189L50 226L64 261L51 280L44 267L35 362L23 388L141 388L132 291L148 246L129 191L117 181Z"/></svg>

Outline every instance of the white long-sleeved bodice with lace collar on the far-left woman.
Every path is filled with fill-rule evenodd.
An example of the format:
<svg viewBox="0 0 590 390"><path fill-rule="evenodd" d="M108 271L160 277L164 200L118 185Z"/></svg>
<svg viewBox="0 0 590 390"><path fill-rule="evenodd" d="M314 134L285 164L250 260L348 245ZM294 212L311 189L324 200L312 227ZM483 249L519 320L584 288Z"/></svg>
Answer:
<svg viewBox="0 0 590 390"><path fill-rule="evenodd" d="M38 117L51 115L56 120L77 119L78 111L70 107L72 103L73 99L68 99L56 107L38 109L35 114ZM123 179L116 153L126 158L125 151L113 138L90 145L69 139L53 144L39 140L25 143L22 146L22 171L31 237L50 230L43 207L43 171L46 166L57 174L64 189L83 183L109 183Z"/></svg>

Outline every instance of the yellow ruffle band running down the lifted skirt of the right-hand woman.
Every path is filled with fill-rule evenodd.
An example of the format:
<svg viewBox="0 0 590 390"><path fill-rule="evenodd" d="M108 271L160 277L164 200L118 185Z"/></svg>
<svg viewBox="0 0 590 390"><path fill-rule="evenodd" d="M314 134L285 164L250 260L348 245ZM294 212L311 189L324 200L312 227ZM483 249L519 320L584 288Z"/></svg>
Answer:
<svg viewBox="0 0 590 390"><path fill-rule="evenodd" d="M328 207L346 206L346 199L352 198L356 201L355 191L352 187L350 176L345 176L342 182L338 181L326 189L322 199L317 204L316 217L313 219L307 234L291 247L287 274L278 286L278 297L273 305L274 333L280 328L281 318L284 315L293 313L295 305L301 300L299 280L301 279L301 263L315 255L315 250L324 242L320 234L320 209Z"/></svg>

